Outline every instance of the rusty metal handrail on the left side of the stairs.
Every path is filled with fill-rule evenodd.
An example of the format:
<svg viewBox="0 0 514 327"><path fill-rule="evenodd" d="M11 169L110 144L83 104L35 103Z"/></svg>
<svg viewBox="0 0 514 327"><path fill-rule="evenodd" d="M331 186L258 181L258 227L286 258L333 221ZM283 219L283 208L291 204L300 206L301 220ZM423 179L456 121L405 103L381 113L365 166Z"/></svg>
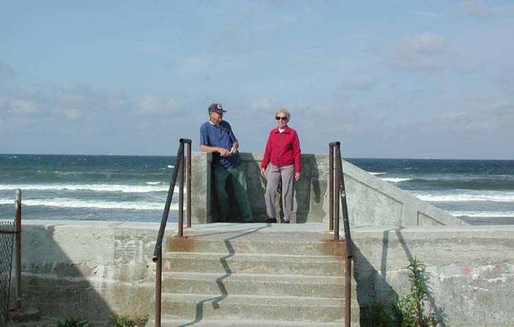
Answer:
<svg viewBox="0 0 514 327"><path fill-rule="evenodd" d="M160 313L161 313L161 295L162 295L162 239L164 238L164 230L166 230L166 223L168 221L169 208L171 207L171 199L173 198L173 191L179 176L179 203L178 203L178 237L184 237L184 143L188 145L187 148L187 227L191 228L191 140L188 138L180 138L180 145L177 152L177 160L171 175L171 182L169 184L168 196L166 198L166 205L162 213L160 221L160 228L157 234L156 247L154 250L154 257L151 259L156 263L156 327L160 327Z"/></svg>

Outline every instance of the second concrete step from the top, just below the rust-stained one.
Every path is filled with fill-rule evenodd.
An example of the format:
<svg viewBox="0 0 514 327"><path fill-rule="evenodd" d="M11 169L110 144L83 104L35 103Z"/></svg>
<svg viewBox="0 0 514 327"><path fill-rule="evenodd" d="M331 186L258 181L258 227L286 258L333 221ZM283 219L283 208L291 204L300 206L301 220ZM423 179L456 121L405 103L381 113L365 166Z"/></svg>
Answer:
<svg viewBox="0 0 514 327"><path fill-rule="evenodd" d="M345 276L344 258L339 256L167 252L162 262L163 272Z"/></svg>

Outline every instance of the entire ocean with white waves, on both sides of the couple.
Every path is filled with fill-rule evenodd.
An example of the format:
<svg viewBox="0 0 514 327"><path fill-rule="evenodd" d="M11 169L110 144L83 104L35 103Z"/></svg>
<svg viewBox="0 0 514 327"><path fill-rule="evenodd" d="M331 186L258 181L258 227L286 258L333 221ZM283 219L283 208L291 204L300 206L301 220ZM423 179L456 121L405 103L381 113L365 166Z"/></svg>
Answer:
<svg viewBox="0 0 514 327"><path fill-rule="evenodd" d="M345 160L474 225L514 223L514 160ZM173 156L0 154L0 219L14 219L21 189L23 219L158 222L174 165Z"/></svg>

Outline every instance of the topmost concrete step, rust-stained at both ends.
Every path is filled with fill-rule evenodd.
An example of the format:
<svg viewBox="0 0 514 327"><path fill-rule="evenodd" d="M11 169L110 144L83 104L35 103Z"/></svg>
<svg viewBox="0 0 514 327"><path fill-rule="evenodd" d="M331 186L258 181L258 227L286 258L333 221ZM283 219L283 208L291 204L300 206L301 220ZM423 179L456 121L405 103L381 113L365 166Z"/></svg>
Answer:
<svg viewBox="0 0 514 327"><path fill-rule="evenodd" d="M169 252L215 252L291 254L304 256L344 256L345 242L334 241L332 234L301 232L225 232L198 234L167 239Z"/></svg>

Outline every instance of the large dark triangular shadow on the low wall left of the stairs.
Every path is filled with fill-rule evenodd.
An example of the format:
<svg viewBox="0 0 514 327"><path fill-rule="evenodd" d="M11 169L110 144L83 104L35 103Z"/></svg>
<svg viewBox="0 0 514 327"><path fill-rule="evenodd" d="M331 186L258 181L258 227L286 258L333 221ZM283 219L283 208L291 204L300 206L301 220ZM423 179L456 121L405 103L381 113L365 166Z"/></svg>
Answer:
<svg viewBox="0 0 514 327"><path fill-rule="evenodd" d="M47 237L41 237L42 233L47 234ZM84 266L69 258L66 249L53 241L55 233L55 226L22 228L22 308L38 308L43 317L53 319L64 320L73 316L91 323L108 322L114 312L95 291L98 285L91 284L90 280L95 278L86 277L88 273L93 276L97 273L93 269L84 271ZM77 240L79 247L78 242ZM13 271L10 292L10 303L13 305L16 284L14 278Z"/></svg>

